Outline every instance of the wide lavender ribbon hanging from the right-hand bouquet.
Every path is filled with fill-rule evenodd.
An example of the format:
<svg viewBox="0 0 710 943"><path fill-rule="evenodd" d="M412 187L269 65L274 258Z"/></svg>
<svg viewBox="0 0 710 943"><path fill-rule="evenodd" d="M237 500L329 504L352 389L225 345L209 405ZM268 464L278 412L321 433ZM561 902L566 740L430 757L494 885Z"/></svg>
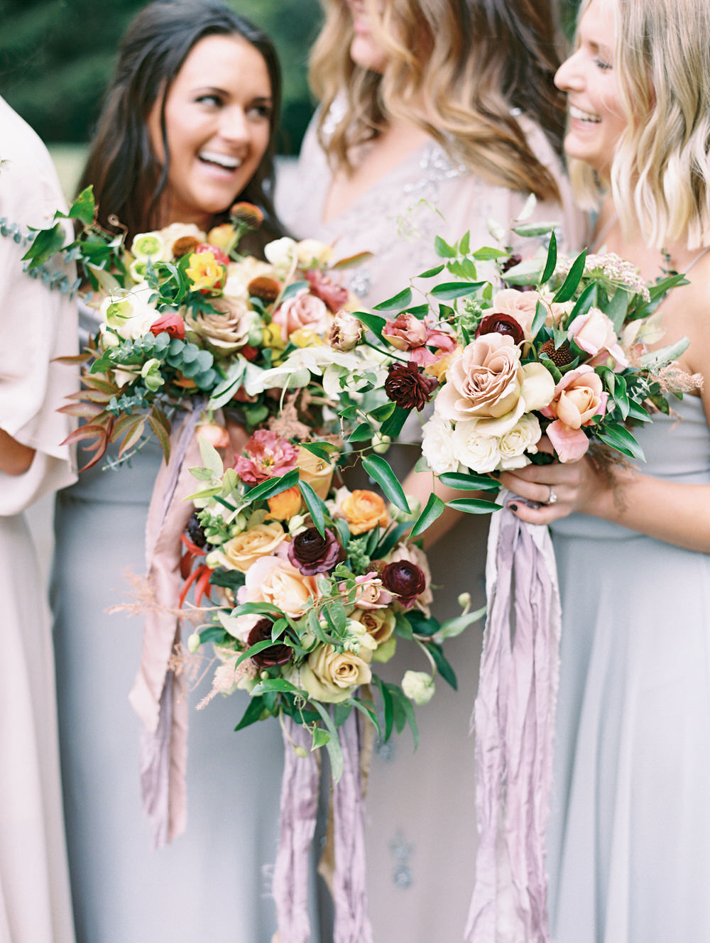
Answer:
<svg viewBox="0 0 710 943"><path fill-rule="evenodd" d="M504 505L487 549L475 726L476 880L466 943L549 943L545 831L553 777L560 604L547 527Z"/></svg>

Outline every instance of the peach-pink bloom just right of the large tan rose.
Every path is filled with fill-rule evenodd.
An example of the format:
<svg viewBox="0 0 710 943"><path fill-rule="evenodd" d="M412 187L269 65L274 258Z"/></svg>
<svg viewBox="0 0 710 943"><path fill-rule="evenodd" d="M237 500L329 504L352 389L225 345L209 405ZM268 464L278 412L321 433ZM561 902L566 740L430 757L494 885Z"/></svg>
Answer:
<svg viewBox="0 0 710 943"><path fill-rule="evenodd" d="M546 432L561 462L573 462L585 455L589 439L582 426L604 415L608 398L601 378L588 364L565 373L556 385L552 402L540 412L554 420Z"/></svg>

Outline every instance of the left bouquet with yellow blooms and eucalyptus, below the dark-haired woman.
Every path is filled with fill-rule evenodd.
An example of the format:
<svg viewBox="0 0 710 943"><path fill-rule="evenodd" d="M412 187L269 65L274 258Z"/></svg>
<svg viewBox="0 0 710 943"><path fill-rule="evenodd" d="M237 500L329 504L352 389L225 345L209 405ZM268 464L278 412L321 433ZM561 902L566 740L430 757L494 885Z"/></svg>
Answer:
<svg viewBox="0 0 710 943"><path fill-rule="evenodd" d="M363 349L348 353L343 342L342 325L352 332L359 324L343 310L350 297L332 277L328 246L285 238L266 246L267 261L239 255L239 241L262 220L257 207L236 204L229 223L208 234L173 223L129 247L95 225L91 188L68 215L83 227L74 241L61 242L57 223L35 236L25 258L30 272L39 271L61 251L101 292L99 331L76 358L86 389L76 394L79 403L63 407L86 420L73 433L94 441L86 467L110 441L121 440L122 460L151 434L167 460L171 417L181 408L200 408L206 423L231 406L251 430L288 401L306 425L322 425L323 387L332 391L347 375L356 389L372 372ZM227 444L223 430L210 432Z"/></svg>

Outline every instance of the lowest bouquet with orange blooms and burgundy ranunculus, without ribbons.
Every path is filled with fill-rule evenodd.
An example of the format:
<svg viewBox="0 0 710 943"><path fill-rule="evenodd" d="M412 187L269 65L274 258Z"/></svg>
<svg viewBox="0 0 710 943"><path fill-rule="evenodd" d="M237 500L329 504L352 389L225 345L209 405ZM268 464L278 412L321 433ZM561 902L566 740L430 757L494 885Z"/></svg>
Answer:
<svg viewBox="0 0 710 943"><path fill-rule="evenodd" d="M327 747L336 780L337 728L353 709L385 740L408 723L416 742L411 701L431 699L437 670L455 687L441 643L482 613L467 607L443 625L431 617L429 567L406 538L414 515L399 483L383 478L389 505L369 489L336 488L336 445L292 442L268 429L226 471L206 440L201 449L206 464L191 472L206 487L192 495L197 510L183 537L181 604L192 583L198 606L204 592L221 597L188 643L192 652L211 643L220 661L206 700L246 689L252 700L237 729L288 716L308 731L312 749ZM379 456L370 459L382 478L378 465ZM404 640L429 670L407 670L399 686L374 669ZM382 698L382 729L370 685Z"/></svg>

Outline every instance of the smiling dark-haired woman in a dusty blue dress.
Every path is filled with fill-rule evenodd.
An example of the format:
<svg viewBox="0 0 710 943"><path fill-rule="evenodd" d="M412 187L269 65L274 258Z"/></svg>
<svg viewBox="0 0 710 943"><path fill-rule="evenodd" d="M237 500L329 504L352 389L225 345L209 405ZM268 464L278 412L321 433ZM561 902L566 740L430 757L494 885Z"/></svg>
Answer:
<svg viewBox="0 0 710 943"><path fill-rule="evenodd" d="M266 216L249 246L258 251L258 240L280 235L271 202L279 98L271 41L221 3L145 8L122 43L82 180L93 184L100 223L126 226L129 239L170 223L207 230L248 200ZM152 852L140 808L140 723L127 695L141 620L106 610L124 601L124 568L144 571L160 460L147 446L131 467L91 469L58 499L52 594L77 938L269 943L262 865L276 848L278 730L258 725L237 738L239 704L195 712L190 699L185 834Z"/></svg>

